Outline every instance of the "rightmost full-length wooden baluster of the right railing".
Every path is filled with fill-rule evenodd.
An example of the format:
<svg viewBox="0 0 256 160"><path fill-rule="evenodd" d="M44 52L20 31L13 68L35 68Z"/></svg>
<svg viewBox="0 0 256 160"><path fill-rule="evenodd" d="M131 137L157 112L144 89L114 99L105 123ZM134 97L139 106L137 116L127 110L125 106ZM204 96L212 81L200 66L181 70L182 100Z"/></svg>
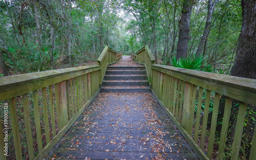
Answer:
<svg viewBox="0 0 256 160"><path fill-rule="evenodd" d="M238 159L241 140L242 140L242 134L244 129L244 120L245 120L246 110L247 110L247 103L240 102L239 111L238 111L238 120L236 124L236 131L234 131L234 141L232 145L232 152L231 152L231 158L230 158L231 160Z"/></svg>

